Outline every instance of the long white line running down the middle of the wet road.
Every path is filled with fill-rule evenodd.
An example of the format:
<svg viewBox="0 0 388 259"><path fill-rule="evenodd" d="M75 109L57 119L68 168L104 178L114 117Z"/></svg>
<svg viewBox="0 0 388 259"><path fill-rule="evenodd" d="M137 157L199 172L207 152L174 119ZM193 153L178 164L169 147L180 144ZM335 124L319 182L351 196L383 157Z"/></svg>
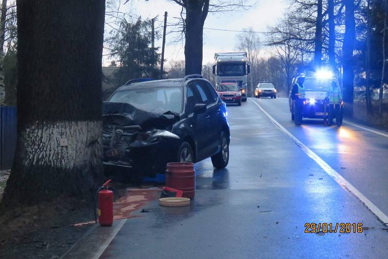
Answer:
<svg viewBox="0 0 388 259"><path fill-rule="evenodd" d="M331 168L321 157L316 153L311 151L305 144L303 144L299 139L293 136L285 127L283 127L279 122L277 122L271 115L268 114L257 102L252 101L259 109L267 115L267 117L274 123L284 134L290 137L296 145L298 145L311 159L313 159L328 175L330 175L339 185L349 190L353 195L355 195L364 205L375 214L384 224L388 225L388 216L384 214L376 205L372 203L368 198L366 198L360 191L356 189L351 183L349 183L345 178L343 178L336 170Z"/></svg>

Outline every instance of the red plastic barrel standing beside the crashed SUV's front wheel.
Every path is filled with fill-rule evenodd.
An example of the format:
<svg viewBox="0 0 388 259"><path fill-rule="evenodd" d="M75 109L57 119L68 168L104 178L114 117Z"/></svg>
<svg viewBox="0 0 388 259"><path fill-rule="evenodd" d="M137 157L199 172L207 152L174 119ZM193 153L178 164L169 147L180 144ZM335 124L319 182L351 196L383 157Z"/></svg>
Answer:
<svg viewBox="0 0 388 259"><path fill-rule="evenodd" d="M194 198L195 170L193 163L168 163L166 168L166 187L183 191L182 197Z"/></svg>

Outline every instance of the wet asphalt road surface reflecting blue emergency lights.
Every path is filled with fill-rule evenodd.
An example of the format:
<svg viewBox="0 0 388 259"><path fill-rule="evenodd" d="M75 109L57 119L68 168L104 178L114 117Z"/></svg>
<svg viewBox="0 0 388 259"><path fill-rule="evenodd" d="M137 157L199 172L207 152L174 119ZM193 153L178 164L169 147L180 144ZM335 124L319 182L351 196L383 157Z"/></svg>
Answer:
<svg viewBox="0 0 388 259"><path fill-rule="evenodd" d="M388 137L346 124L296 127L287 99L250 99L228 107L228 167L197 163L189 207L147 204L149 213L127 220L100 258L388 258L387 226L253 102L388 213ZM308 222L366 228L305 233Z"/></svg>

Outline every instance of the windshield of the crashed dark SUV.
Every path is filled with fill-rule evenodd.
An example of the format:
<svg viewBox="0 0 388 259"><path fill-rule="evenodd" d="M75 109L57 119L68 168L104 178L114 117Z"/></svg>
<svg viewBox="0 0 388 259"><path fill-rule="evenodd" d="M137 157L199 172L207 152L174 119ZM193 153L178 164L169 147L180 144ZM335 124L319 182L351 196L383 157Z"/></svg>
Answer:
<svg viewBox="0 0 388 259"><path fill-rule="evenodd" d="M136 107L158 107L173 112L182 111L182 88L155 87L117 91L110 102L129 103Z"/></svg>

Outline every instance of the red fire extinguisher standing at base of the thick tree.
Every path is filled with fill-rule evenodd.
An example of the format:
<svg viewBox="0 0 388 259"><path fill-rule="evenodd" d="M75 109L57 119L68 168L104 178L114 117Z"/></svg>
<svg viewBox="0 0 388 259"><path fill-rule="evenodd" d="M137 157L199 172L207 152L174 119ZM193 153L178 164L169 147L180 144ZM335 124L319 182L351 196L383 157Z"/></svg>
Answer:
<svg viewBox="0 0 388 259"><path fill-rule="evenodd" d="M112 180L106 181L98 188L96 193L95 219L101 226L112 226L113 224L113 191L108 186ZM97 212L97 213L96 213Z"/></svg>

